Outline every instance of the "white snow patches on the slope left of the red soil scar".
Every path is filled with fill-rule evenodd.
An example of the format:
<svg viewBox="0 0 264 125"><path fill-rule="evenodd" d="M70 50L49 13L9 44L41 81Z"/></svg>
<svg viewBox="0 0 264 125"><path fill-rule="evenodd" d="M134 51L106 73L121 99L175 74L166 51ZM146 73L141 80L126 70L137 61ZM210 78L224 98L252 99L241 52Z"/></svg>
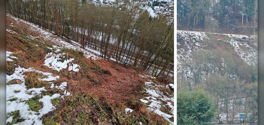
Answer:
<svg viewBox="0 0 264 125"><path fill-rule="evenodd" d="M79 47L73 46L65 41L63 41L60 37L53 35L52 33L49 33L48 31L45 31L41 28L39 28L37 25L34 25L32 23L29 23L27 21L24 21L22 19L13 17L12 15L7 14L7 17L10 17L16 21L17 24L20 25L28 25L28 29L34 33L39 33L38 37L33 36L25 36L27 39L37 39L39 37L43 38L45 41L52 41L56 45L53 45L52 48L47 47L51 50L51 53L48 53L46 55L46 58L44 59L44 65L53 68L53 70L60 71L63 68L67 68L69 71L78 72L81 68L78 64L72 63L74 59L68 59L64 62L59 61L61 57L65 57L66 53L62 53L61 49L67 48L67 49L73 49L78 50L84 53L84 56L91 59L100 59L100 57L84 50ZM11 23L12 24L12 23ZM14 26L15 27L15 26ZM18 34L14 31L11 31L10 29L6 29L7 32L11 34ZM41 44L45 45L46 42L41 42ZM36 45L41 46L39 45ZM12 55L13 52L6 51L6 61L14 61L15 59L19 59ZM18 64L14 64L14 72L10 75L6 74L6 114L7 114L7 120L6 123L10 124L16 121L16 118L23 119L21 122L18 122L18 124L42 124L42 120L40 118L47 114L48 112L55 110L55 106L52 104L51 100L55 98L64 98L64 96L70 96L71 93L67 91L67 82L62 82L59 86L55 86L53 82L60 78L60 76L55 76L54 74L50 72L43 72L40 70L36 70L34 66L30 68L24 68L21 67ZM47 82L50 87L45 88L28 88L26 85L26 78L29 77L27 74L38 73L40 76L38 76L39 82ZM62 90L63 93L55 93L51 96L44 95L41 96L45 91L47 91L47 88L54 88L58 90ZM30 100L32 98L35 98L36 96L40 96L40 98L37 100L42 103L41 108L38 111L33 111L30 109ZM32 103L33 104L33 103ZM34 105L35 106L35 105ZM14 112L18 113L16 118L14 118ZM13 122L12 122L13 121Z"/></svg>

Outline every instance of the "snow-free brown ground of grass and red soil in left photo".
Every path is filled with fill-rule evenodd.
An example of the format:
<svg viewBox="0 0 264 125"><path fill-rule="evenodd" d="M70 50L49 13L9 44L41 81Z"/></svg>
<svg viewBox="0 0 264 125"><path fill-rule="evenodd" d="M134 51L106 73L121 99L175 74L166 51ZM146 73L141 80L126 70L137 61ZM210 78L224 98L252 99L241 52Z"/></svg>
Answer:
<svg viewBox="0 0 264 125"><path fill-rule="evenodd" d="M9 26L11 23L15 27ZM141 78L139 74L142 73L137 72L132 66L113 61L87 59L80 56L77 51L65 49L67 58L69 53L69 58L74 58L73 63L80 65L81 68L79 72L71 72L68 68L58 72L43 65L43 59L49 53L45 48L56 43L46 41L42 37L36 40L27 39L26 36L29 35L39 36L38 32L31 31L28 27L28 24L18 24L14 19L7 17L7 29L18 33L6 32L6 50L13 52L11 56L18 57L15 59L17 65L13 62L7 63L7 74L13 74L14 67L18 65L23 68L33 66L36 70L60 76L59 79L52 81L54 86L67 82L67 91L72 94L65 96L65 99L52 101L53 105L56 105L56 110L43 115L41 118L43 124L138 124L139 119L144 120L143 124L168 124L161 116L150 112L138 101L143 96L143 84L149 78ZM44 41L45 44L40 41ZM21 84L21 81L15 79L8 84L14 83ZM47 91L42 93L42 96L44 94L51 96L58 91L61 94L64 92L47 86L45 89ZM126 115L125 108L134 111Z"/></svg>

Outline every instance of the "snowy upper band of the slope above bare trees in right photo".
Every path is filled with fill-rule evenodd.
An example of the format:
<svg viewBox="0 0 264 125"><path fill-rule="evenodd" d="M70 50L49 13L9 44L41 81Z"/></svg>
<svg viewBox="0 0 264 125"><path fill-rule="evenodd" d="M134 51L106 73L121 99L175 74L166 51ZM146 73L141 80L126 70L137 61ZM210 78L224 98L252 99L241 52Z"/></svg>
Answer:
<svg viewBox="0 0 264 125"><path fill-rule="evenodd" d="M236 54L247 64L255 65L257 63L257 41L254 40L254 36L180 30L177 30L177 59L188 60L191 57L191 52L207 47L205 41L215 42L215 40L209 39L208 35L214 35L218 42L230 43Z"/></svg>

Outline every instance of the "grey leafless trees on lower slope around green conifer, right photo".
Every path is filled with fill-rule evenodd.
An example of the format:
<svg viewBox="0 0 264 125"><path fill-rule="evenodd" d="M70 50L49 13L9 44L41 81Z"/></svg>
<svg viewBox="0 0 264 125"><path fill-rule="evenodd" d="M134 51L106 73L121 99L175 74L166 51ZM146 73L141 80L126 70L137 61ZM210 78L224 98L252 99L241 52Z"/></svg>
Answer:
<svg viewBox="0 0 264 125"><path fill-rule="evenodd" d="M228 46L228 44L227 44ZM257 119L257 65L248 65L230 52L193 52L192 60L180 60L177 67L177 89L206 90L219 108L218 114L252 113ZM217 116L217 115L216 115ZM217 118L217 117L216 117ZM247 119L248 121L252 119Z"/></svg>

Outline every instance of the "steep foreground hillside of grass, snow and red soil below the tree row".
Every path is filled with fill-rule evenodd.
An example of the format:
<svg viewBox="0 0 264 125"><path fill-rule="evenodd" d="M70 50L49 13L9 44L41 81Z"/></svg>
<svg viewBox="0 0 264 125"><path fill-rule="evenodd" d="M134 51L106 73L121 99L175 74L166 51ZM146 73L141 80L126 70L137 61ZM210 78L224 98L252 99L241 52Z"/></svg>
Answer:
<svg viewBox="0 0 264 125"><path fill-rule="evenodd" d="M6 24L7 124L173 124L169 85L12 15Z"/></svg>

